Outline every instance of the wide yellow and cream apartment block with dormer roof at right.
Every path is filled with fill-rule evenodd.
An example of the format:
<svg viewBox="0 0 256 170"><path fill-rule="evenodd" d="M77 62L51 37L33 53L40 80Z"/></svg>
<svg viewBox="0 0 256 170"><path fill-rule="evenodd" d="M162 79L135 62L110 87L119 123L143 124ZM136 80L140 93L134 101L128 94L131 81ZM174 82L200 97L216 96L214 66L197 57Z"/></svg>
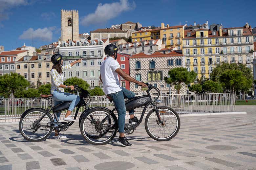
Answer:
<svg viewBox="0 0 256 170"><path fill-rule="evenodd" d="M221 62L252 68L253 34L248 24L235 28L213 24L210 29L185 30L182 47L187 70L197 72L198 78L210 78Z"/></svg>

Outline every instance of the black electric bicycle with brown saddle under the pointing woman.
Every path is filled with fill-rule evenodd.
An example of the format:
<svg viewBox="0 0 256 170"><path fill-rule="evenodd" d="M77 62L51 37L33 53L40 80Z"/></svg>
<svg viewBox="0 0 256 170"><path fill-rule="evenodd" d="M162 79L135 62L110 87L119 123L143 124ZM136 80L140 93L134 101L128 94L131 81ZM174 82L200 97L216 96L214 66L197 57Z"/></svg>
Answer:
<svg viewBox="0 0 256 170"><path fill-rule="evenodd" d="M76 119L80 107L83 107L85 110L82 112L79 123L81 122L82 115L89 109L87 105L90 101L90 95L87 90L82 89L78 85L74 85L75 89L70 92L78 92L80 101L75 106L77 107L74 119ZM70 106L70 101L63 101L56 106L52 106L50 98L53 95L41 95L41 98L47 99L51 109L45 110L43 108L31 108L26 110L20 117L19 130L21 135L31 141L39 142L47 139L54 128L58 128L58 131L66 131L74 122L60 122L57 118L56 113L68 110ZM84 98L87 100L85 101ZM50 112L53 111L54 118L57 122L53 122L53 116Z"/></svg>

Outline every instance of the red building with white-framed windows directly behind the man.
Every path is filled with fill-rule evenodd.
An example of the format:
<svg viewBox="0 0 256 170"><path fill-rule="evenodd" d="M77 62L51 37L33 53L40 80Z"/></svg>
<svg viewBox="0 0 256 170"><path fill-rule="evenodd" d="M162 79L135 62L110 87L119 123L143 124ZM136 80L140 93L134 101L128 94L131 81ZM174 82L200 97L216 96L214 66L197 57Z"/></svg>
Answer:
<svg viewBox="0 0 256 170"><path fill-rule="evenodd" d="M117 62L120 64L121 69L130 75L130 59L131 54L125 54L125 53L118 53L117 54ZM106 57L104 57L104 60ZM119 82L122 87L125 87L127 90L130 90L130 82L124 80L122 77L119 76Z"/></svg>

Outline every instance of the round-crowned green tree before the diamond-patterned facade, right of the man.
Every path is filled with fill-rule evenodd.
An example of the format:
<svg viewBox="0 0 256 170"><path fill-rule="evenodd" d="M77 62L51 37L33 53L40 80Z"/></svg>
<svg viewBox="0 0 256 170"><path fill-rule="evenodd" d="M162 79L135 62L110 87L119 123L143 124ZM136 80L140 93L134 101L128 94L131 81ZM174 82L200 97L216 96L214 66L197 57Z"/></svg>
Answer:
<svg viewBox="0 0 256 170"><path fill-rule="evenodd" d="M187 71L186 68L174 68L168 71L168 77L164 77L166 83L175 85L180 94L181 85L188 85L195 81L197 73Z"/></svg>

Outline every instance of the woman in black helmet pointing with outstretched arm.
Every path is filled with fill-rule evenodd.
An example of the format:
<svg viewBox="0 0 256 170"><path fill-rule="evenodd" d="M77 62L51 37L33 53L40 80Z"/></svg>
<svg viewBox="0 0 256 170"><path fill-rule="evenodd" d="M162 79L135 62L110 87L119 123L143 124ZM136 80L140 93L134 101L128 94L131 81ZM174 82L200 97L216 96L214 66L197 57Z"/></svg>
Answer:
<svg viewBox="0 0 256 170"><path fill-rule="evenodd" d="M72 66L76 63L81 63L82 59L76 60L72 63L69 63L68 65L63 65L62 61L62 55L60 54L54 54L51 58L53 67L51 70L51 80L52 80L52 86L51 86L51 94L53 95L53 100L54 100L54 105L59 104L62 101L72 101L69 109L64 117L63 120L65 121L75 121L70 114L74 110L75 106L78 104L80 101L80 97L75 95L75 94L70 94L70 93L65 93L64 88L71 88L71 90L74 90L73 85L63 85L63 76L62 76L62 71L71 69ZM58 119L60 117L60 112L56 113ZM57 122L56 119L54 118L54 122ZM53 136L55 139L60 139L60 138L67 138L66 136L61 135L58 133L58 130L55 129L55 136Z"/></svg>

